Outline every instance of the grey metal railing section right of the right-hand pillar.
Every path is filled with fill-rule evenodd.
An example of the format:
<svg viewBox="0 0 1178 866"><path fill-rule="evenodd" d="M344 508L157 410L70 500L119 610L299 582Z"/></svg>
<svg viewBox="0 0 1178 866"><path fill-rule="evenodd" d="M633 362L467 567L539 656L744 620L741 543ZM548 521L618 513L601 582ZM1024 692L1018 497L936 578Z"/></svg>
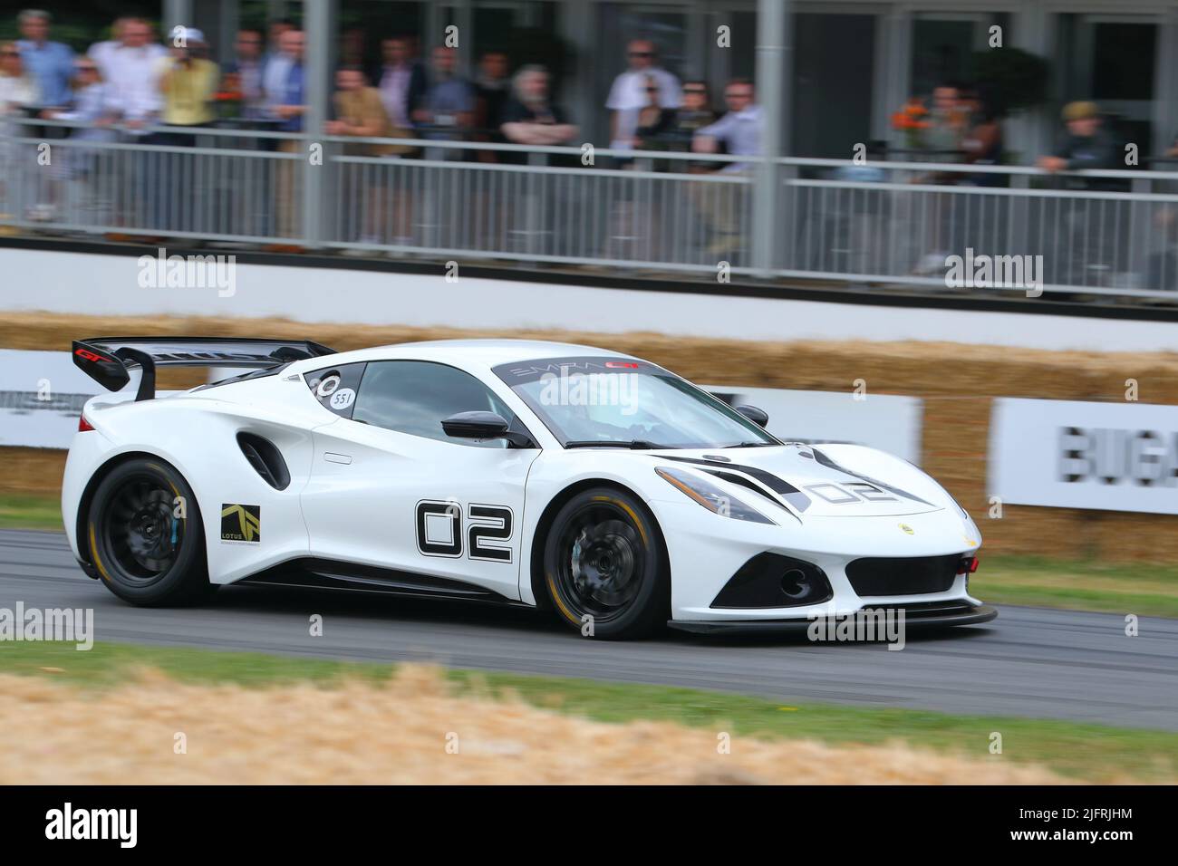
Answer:
<svg viewBox="0 0 1178 866"><path fill-rule="evenodd" d="M782 161L781 276L947 286L1017 257L1045 292L1178 298L1178 172ZM971 275L972 276L972 275Z"/></svg>

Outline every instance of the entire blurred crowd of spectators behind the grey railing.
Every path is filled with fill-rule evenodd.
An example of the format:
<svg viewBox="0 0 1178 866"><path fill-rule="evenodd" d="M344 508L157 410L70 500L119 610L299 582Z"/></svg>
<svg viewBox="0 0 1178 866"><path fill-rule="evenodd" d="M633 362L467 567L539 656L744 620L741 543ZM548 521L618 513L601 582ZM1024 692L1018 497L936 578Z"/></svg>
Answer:
<svg viewBox="0 0 1178 866"><path fill-rule="evenodd" d="M167 146L167 157L145 160L133 171L131 180L146 190L164 185L170 172L174 174L180 165L174 154L196 147L201 130L316 132L307 128L306 38L293 21L273 21L265 32L240 29L232 60L224 66L212 60L209 40L199 29L178 27L161 39L140 18L115 20L111 38L91 45L85 53L53 39L53 21L46 12L20 13L18 28L19 40L0 42L0 201L5 200L6 185L27 183L14 171L14 139L29 138L31 127L42 139L70 137L75 145L130 141ZM554 100L554 81L544 66L515 64L505 52L490 49L468 75L455 48L431 46L423 55L416 38L405 34L382 39L378 62L371 67L360 61L363 45L356 49L344 40L340 53L344 62L335 74L330 118L319 132L333 137L344 156L519 165L530 161L527 148L581 144L577 123ZM677 172L716 173L713 179L748 174L752 164L742 158L761 153L763 127L752 81L729 80L720 94L724 110L716 112L708 84L680 80L663 67L653 41L631 40L626 61L627 68L613 80L603 103L609 112L611 167L657 172L674 166ZM895 115L894 125L905 132L908 144L899 154L915 161L1000 165L1005 159L1002 114L984 84L944 84L934 88L928 106L914 97ZM1063 120L1065 134L1059 147L1037 161L1043 171L1124 167L1119 144L1098 106L1072 103ZM66 125L39 126L40 121ZM285 154L264 190L265 196L273 196L276 206L265 214L262 233L297 237L293 199L299 181L293 154L304 145L290 135L259 134L257 139L258 148L273 151L279 158ZM519 147L471 150L456 148L455 143ZM872 159L885 151L879 143L873 144ZM668 152L723 153L730 159L671 161L659 156ZM93 173L93 153L78 147L67 156L72 159L58 181ZM561 165L560 159L549 161ZM886 179L878 167L849 163L833 173L843 180ZM1004 176L990 172L946 171L913 179L979 186L1005 183ZM1096 186L1100 181L1076 183ZM747 196L747 187L693 180L686 190L693 212L707 225L709 252L722 254L746 246L737 219L743 209L735 197ZM377 244L391 238L399 245L411 244L411 194L408 189L366 184L366 204L349 230L350 239ZM57 218L60 198L60 190L49 184L21 200L31 219L49 222ZM484 205L495 207L479 204ZM193 229L165 226L167 206L163 197L148 193L139 206L139 222ZM607 231L611 237L633 237L635 224L650 224L656 218L649 207L641 211L626 200L615 210L605 217L613 224ZM127 218L118 213L111 217L115 223L120 219ZM926 256L933 266L942 243L938 238L926 245L937 251ZM602 253L613 256L610 250Z"/></svg>

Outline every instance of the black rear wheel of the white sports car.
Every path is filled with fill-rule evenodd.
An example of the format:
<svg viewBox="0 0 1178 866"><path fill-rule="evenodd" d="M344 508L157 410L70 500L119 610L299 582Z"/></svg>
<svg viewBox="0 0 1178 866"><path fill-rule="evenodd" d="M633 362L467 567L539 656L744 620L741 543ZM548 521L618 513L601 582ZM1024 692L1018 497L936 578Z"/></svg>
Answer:
<svg viewBox="0 0 1178 866"><path fill-rule="evenodd" d="M191 604L218 588L209 582L197 498L161 460L131 460L102 478L90 503L86 543L102 583L132 604Z"/></svg>

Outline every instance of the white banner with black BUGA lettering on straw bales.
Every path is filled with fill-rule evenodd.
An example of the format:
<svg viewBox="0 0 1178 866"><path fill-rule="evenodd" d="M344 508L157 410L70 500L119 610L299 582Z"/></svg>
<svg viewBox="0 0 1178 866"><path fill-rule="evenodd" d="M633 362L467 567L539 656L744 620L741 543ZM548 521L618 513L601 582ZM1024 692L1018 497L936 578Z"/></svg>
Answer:
<svg viewBox="0 0 1178 866"><path fill-rule="evenodd" d="M1014 505L1178 514L1178 406L995 399L990 495Z"/></svg>

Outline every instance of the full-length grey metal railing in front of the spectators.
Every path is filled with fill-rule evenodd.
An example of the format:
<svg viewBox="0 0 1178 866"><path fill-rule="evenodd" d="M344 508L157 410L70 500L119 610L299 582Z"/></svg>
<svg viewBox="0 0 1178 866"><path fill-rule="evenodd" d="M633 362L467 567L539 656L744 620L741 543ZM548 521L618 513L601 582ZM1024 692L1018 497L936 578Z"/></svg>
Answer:
<svg viewBox="0 0 1178 866"><path fill-rule="evenodd" d="M1047 176L220 128L137 138L22 123L0 125L0 231L9 233L941 290L955 285L959 257L961 287L1024 291L1001 270L1019 257L1019 273L1045 292L1178 297L1178 172ZM768 209L754 211L754 200ZM775 214L772 232L753 231L754 212ZM986 259L998 272L987 276Z"/></svg>

